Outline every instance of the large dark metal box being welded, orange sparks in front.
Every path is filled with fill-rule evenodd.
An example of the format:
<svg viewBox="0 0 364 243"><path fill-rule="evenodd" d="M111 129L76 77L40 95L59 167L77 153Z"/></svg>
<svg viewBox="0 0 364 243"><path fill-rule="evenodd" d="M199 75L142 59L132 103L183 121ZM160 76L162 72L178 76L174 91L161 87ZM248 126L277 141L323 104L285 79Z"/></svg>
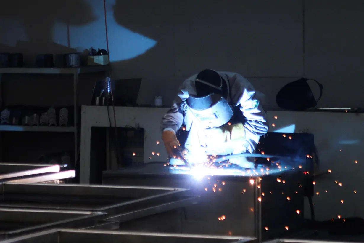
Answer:
<svg viewBox="0 0 364 243"><path fill-rule="evenodd" d="M273 167L272 167L273 168ZM104 184L153 185L189 188L199 195L182 217L150 216L122 225L121 230L158 230L187 234L241 235L258 240L277 238L299 230L303 224L303 172L277 166L240 171L240 176L196 177L178 167L151 163L117 172L104 172ZM178 173L174 173L175 170ZM232 168L234 171L234 168ZM224 170L226 173L227 170ZM155 222L159 222L158 226ZM154 222L154 223L153 223ZM162 228L161 225L165 225ZM158 228L155 228L158 227Z"/></svg>

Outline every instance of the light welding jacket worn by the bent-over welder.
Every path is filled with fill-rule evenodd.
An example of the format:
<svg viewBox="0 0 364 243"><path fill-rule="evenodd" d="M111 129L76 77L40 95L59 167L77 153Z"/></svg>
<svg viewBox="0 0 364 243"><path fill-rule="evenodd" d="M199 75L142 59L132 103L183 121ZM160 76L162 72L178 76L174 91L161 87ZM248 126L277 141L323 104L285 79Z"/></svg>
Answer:
<svg viewBox="0 0 364 243"><path fill-rule="evenodd" d="M244 121L245 141L244 146L248 152L252 153L258 144L260 136L268 132L266 122L266 113L262 107L264 95L254 90L252 84L242 75L234 72L218 72L227 82L228 98L230 106L239 106L240 112L246 118ZM186 125L189 131L185 148L189 151L202 152L207 154L217 154L208 151L206 147L206 137L203 130L205 127L196 119L186 106L186 99L196 96L195 78L197 74L187 78L179 87L179 92L174 99L171 109L163 116L161 122L162 132L171 130L175 133L181 128L182 124ZM236 109L237 110L237 109Z"/></svg>

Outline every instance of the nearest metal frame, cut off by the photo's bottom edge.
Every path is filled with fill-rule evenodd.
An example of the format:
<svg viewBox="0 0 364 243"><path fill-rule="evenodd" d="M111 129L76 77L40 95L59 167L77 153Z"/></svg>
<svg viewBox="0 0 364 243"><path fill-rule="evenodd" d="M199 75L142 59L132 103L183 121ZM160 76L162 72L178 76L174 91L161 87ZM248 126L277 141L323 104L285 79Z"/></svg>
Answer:
<svg viewBox="0 0 364 243"><path fill-rule="evenodd" d="M3 241L2 243L100 243L100 242L160 242L160 243L254 243L254 238L238 236L184 235L127 231L48 230Z"/></svg>

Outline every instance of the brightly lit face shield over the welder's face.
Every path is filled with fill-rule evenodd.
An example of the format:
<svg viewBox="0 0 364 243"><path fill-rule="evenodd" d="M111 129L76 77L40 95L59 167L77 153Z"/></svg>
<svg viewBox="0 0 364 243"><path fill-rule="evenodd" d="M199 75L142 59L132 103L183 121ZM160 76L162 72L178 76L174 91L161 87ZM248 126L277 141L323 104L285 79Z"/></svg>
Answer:
<svg viewBox="0 0 364 243"><path fill-rule="evenodd" d="M227 101L218 94L186 100L188 109L206 126L206 128L219 127L226 124L233 116L233 110Z"/></svg>

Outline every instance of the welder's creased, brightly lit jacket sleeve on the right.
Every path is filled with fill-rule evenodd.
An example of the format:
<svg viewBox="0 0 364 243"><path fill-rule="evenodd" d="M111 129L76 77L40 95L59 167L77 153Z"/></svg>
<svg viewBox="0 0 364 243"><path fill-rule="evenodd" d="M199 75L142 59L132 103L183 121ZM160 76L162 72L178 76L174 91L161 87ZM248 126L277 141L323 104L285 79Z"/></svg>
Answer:
<svg viewBox="0 0 364 243"><path fill-rule="evenodd" d="M245 145L250 153L256 148L259 138L268 132L266 113L254 87L244 77L234 74L231 77L232 100L240 106L246 118Z"/></svg>

